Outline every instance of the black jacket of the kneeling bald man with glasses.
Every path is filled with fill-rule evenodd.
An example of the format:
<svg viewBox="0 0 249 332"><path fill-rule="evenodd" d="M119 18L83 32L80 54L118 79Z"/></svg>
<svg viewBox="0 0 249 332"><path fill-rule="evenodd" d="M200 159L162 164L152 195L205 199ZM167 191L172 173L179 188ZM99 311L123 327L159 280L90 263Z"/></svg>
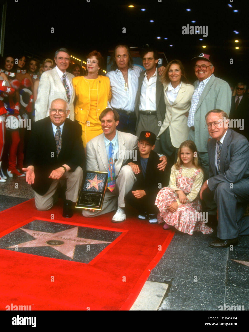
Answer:
<svg viewBox="0 0 249 332"><path fill-rule="evenodd" d="M52 183L48 176L52 170L68 165L72 171L85 163L81 139L82 128L77 122L65 120L61 135L61 151L57 158L52 123L49 117L32 122L32 130L25 154L25 165L35 167L35 183L32 188L44 195Z"/></svg>

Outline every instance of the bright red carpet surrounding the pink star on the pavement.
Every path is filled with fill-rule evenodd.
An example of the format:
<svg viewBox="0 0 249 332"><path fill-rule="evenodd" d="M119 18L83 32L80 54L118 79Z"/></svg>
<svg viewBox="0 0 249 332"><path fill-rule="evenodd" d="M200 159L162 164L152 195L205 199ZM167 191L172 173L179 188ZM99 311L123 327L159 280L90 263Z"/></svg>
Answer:
<svg viewBox="0 0 249 332"><path fill-rule="evenodd" d="M30 200L0 213L0 237L34 219L122 232L88 264L0 249L0 310L11 303L32 310L130 309L174 232L137 218L113 223L113 213L84 218L80 212L67 219L61 204L37 211Z"/></svg>

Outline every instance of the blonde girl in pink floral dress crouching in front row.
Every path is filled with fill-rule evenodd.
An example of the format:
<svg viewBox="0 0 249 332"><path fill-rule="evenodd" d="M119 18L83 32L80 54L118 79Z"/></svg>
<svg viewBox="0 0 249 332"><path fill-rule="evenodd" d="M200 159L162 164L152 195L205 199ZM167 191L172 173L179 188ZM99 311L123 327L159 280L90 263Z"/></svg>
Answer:
<svg viewBox="0 0 249 332"><path fill-rule="evenodd" d="M178 150L178 159L171 168L169 187L162 188L155 205L160 213L158 223L165 221L164 229L174 226L181 232L193 235L194 230L209 234L213 230L205 223L199 192L203 171L198 166L197 148L193 141L184 141ZM206 220L201 220L206 219Z"/></svg>

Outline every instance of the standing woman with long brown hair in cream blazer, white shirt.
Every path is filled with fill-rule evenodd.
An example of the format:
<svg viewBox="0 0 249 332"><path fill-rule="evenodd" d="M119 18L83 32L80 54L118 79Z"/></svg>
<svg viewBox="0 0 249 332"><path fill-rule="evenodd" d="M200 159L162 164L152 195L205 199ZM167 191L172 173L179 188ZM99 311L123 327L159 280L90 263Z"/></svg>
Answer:
<svg viewBox="0 0 249 332"><path fill-rule="evenodd" d="M162 83L166 113L157 139L160 139L161 149L173 165L180 144L188 139L188 112L194 86L188 82L180 60L169 62L162 75Z"/></svg>

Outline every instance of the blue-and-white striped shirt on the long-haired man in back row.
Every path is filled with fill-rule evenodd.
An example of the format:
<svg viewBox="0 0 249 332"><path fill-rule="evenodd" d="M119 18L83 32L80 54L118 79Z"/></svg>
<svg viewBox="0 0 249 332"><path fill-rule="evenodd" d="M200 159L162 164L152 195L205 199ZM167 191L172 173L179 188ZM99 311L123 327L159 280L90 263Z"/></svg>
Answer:
<svg viewBox="0 0 249 332"><path fill-rule="evenodd" d="M108 107L124 111L134 111L138 77L142 71L143 69L139 66L133 66L133 68L128 69L128 88L126 89L124 76L119 69L109 71L106 74L110 79L112 89L112 100L111 103L108 102Z"/></svg>

